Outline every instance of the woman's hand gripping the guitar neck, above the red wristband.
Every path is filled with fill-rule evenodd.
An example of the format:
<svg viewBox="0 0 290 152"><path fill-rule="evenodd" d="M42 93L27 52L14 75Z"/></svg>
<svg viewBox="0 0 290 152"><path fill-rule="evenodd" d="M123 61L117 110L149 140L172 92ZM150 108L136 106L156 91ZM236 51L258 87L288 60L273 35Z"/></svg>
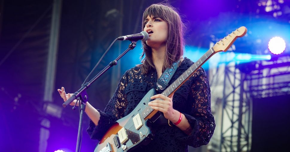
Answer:
<svg viewBox="0 0 290 152"><path fill-rule="evenodd" d="M152 109L158 110L164 114L164 117L166 119L169 119L171 122L177 122L179 119L179 112L175 109L173 109L173 102L171 98L165 96L165 95L153 95L151 99L160 98L161 100L153 100L149 102L149 106L151 106Z"/></svg>

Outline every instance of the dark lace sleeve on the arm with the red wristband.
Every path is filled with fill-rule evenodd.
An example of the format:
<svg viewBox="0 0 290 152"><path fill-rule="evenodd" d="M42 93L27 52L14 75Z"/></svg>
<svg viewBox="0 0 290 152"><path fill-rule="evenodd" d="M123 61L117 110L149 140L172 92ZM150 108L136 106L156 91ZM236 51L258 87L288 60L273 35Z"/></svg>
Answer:
<svg viewBox="0 0 290 152"><path fill-rule="evenodd" d="M210 112L210 87L204 69L200 68L194 73L192 79L192 98L190 114L184 114L192 133L190 136L181 137L180 140L193 147L206 145L210 141L215 123Z"/></svg>

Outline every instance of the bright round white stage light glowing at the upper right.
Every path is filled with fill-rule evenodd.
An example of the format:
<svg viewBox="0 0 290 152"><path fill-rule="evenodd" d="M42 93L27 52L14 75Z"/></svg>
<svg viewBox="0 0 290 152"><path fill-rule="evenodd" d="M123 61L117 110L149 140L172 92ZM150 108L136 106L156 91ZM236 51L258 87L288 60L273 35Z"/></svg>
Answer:
<svg viewBox="0 0 290 152"><path fill-rule="evenodd" d="M268 49L273 54L281 54L286 48L286 43L281 37L273 37L268 43Z"/></svg>

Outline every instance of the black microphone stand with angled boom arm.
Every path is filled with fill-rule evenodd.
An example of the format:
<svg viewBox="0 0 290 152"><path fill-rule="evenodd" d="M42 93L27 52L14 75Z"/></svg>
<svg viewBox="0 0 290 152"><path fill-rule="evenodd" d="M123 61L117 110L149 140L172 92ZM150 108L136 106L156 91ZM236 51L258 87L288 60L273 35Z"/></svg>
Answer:
<svg viewBox="0 0 290 152"><path fill-rule="evenodd" d="M86 92L86 89L91 86L94 81L96 81L100 76L102 76L108 69L110 69L112 66L117 65L117 60L119 60L121 57L123 57L129 50L132 50L135 48L137 41L131 41L131 44L129 47L120 54L114 61L110 62L108 66L106 66L101 72L99 72L94 78L92 78L89 82L85 83L77 92L75 92L71 98L69 98L67 101L65 101L62 106L66 107L70 103L72 103L75 99L80 97L80 122L79 122L79 130L77 133L77 147L76 152L80 151L80 145L81 145L81 133L82 133L82 126L83 126L83 114L86 109L86 102L88 101L88 94Z"/></svg>

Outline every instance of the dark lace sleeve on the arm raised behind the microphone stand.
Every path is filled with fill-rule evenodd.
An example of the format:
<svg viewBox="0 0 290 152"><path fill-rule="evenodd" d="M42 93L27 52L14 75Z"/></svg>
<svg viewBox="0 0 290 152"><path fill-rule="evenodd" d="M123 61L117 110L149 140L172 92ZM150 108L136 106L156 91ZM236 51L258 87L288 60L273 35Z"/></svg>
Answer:
<svg viewBox="0 0 290 152"><path fill-rule="evenodd" d="M127 73L127 72L126 72ZM125 88L127 86L126 73L121 78L118 87L107 104L104 112L100 112L100 120L96 126L91 120L89 122L89 127L87 129L88 135L91 139L100 140L109 127L111 127L115 121L122 118L126 111L126 97L125 97Z"/></svg>

